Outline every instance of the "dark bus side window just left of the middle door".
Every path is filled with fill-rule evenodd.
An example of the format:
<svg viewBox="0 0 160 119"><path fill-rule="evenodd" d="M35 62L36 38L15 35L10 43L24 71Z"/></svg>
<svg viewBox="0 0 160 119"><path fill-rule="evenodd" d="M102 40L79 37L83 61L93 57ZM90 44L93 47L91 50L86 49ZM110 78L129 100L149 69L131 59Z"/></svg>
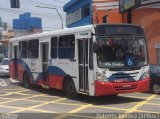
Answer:
<svg viewBox="0 0 160 119"><path fill-rule="evenodd" d="M30 40L28 43L28 57L30 59L38 58L39 53L39 40Z"/></svg>

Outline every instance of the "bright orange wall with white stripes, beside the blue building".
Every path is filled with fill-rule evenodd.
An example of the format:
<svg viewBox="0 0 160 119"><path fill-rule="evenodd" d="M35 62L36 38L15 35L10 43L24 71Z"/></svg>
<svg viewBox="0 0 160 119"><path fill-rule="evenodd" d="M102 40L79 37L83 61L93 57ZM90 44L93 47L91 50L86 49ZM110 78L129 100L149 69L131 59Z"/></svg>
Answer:
<svg viewBox="0 0 160 119"><path fill-rule="evenodd" d="M122 23L118 4L117 0L93 0L93 23L103 23L104 16L107 16L107 23Z"/></svg>

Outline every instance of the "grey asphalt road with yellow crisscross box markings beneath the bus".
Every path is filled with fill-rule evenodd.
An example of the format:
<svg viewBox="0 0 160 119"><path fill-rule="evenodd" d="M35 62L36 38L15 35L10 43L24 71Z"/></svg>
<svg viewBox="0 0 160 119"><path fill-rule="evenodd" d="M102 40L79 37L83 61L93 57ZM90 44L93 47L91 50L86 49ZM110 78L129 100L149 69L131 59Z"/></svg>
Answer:
<svg viewBox="0 0 160 119"><path fill-rule="evenodd" d="M72 100L63 91L35 86L25 89L19 82L0 78L0 115L18 119L160 118L160 95L120 94L117 97L79 95ZM136 118L137 119L137 118Z"/></svg>

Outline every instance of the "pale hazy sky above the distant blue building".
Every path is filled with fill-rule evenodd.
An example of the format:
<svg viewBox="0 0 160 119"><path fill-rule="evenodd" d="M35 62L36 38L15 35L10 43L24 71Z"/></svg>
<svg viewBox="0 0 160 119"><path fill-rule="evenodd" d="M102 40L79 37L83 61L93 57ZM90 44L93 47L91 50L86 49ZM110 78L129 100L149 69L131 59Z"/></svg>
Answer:
<svg viewBox="0 0 160 119"><path fill-rule="evenodd" d="M7 22L9 27L13 26L13 19L18 19L19 14L31 12L31 17L42 18L42 27L44 31L61 29L62 22L56 10L48 8L38 8L36 6L44 6L56 8L64 21L66 13L63 12L63 6L70 0L19 0L20 8L11 8L10 0L0 0L0 17L3 22Z"/></svg>

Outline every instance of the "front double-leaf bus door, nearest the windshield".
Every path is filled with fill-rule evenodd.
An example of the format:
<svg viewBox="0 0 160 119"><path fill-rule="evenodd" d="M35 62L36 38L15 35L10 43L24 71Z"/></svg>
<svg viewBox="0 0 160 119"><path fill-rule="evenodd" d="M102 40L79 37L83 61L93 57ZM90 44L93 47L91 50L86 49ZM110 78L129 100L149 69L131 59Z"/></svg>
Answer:
<svg viewBox="0 0 160 119"><path fill-rule="evenodd" d="M79 91L88 93L88 39L78 40Z"/></svg>

